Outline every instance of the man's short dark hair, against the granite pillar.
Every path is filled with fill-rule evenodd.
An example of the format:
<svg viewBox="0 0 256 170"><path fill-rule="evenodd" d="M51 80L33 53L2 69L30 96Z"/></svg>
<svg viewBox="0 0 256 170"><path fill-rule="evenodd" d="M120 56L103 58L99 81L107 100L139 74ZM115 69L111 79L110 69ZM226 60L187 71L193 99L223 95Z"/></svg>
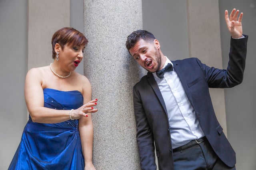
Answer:
<svg viewBox="0 0 256 170"><path fill-rule="evenodd" d="M147 42L150 42L150 41L154 41L156 38L155 36L146 31L146 30L137 30L137 31L134 31L132 32L132 34L130 34L128 37L127 37L127 40L126 40L126 48L129 49L132 48L136 42L138 42L140 39L143 39L144 41L147 41Z"/></svg>

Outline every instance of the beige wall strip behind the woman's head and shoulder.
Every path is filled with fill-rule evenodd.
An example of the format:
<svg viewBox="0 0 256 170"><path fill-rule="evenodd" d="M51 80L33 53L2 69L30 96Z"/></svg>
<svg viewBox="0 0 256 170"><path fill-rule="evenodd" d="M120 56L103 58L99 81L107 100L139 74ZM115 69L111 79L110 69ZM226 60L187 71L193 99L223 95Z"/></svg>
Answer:
<svg viewBox="0 0 256 170"><path fill-rule="evenodd" d="M70 26L70 0L28 0L28 69L52 63L52 35Z"/></svg>

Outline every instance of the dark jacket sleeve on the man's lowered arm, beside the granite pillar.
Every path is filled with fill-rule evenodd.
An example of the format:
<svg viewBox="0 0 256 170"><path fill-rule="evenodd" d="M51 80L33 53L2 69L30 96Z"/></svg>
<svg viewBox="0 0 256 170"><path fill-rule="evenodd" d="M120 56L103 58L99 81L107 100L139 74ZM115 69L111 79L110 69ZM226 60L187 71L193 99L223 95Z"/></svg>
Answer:
<svg viewBox="0 0 256 170"><path fill-rule="evenodd" d="M133 95L140 166L142 170L156 170L154 137L136 87L133 88Z"/></svg>

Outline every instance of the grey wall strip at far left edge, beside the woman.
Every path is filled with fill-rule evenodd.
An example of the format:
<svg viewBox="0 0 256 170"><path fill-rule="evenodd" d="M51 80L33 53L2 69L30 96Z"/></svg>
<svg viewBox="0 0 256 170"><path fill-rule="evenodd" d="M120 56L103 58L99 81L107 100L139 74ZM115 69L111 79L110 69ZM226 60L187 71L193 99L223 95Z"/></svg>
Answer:
<svg viewBox="0 0 256 170"><path fill-rule="evenodd" d="M27 120L27 0L0 0L0 169L6 170Z"/></svg>

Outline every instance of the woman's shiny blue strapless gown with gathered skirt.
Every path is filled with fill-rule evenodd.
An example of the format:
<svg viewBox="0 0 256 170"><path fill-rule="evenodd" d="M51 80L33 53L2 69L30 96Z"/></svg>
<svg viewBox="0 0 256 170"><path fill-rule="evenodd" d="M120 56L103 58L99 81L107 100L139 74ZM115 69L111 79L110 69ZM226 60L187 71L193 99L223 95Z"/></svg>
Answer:
<svg viewBox="0 0 256 170"><path fill-rule="evenodd" d="M82 105L79 91L44 89L44 107L71 110ZM8 170L84 170L78 120L45 124L29 118Z"/></svg>

